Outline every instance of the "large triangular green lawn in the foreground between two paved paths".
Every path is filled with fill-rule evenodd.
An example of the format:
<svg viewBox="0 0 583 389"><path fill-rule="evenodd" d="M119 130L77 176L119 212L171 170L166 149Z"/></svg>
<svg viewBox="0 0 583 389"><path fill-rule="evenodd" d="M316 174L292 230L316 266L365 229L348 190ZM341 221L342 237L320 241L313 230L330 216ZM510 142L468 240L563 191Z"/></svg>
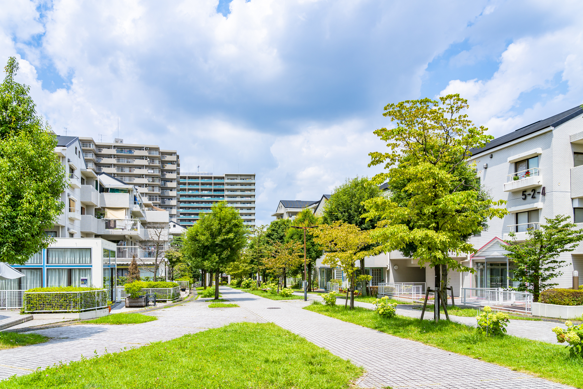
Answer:
<svg viewBox="0 0 583 389"><path fill-rule="evenodd" d="M362 373L275 324L234 323L50 367L1 381L0 388L337 389Z"/></svg>

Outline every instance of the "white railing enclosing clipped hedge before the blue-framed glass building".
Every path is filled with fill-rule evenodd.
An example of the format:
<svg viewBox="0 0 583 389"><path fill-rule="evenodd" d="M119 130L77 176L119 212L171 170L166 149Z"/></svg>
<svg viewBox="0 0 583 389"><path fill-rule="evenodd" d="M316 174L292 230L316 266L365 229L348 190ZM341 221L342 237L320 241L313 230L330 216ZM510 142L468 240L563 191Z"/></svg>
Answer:
<svg viewBox="0 0 583 389"><path fill-rule="evenodd" d="M83 312L107 308L106 289L87 292L25 292L24 313Z"/></svg>

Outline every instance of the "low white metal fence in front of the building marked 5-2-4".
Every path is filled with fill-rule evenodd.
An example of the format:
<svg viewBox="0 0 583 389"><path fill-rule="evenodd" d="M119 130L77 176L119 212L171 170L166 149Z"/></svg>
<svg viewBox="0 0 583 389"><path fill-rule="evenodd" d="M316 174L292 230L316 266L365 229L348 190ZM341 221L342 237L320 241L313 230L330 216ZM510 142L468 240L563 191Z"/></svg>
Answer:
<svg viewBox="0 0 583 389"><path fill-rule="evenodd" d="M502 288L462 288L462 304L532 314L532 293Z"/></svg>

